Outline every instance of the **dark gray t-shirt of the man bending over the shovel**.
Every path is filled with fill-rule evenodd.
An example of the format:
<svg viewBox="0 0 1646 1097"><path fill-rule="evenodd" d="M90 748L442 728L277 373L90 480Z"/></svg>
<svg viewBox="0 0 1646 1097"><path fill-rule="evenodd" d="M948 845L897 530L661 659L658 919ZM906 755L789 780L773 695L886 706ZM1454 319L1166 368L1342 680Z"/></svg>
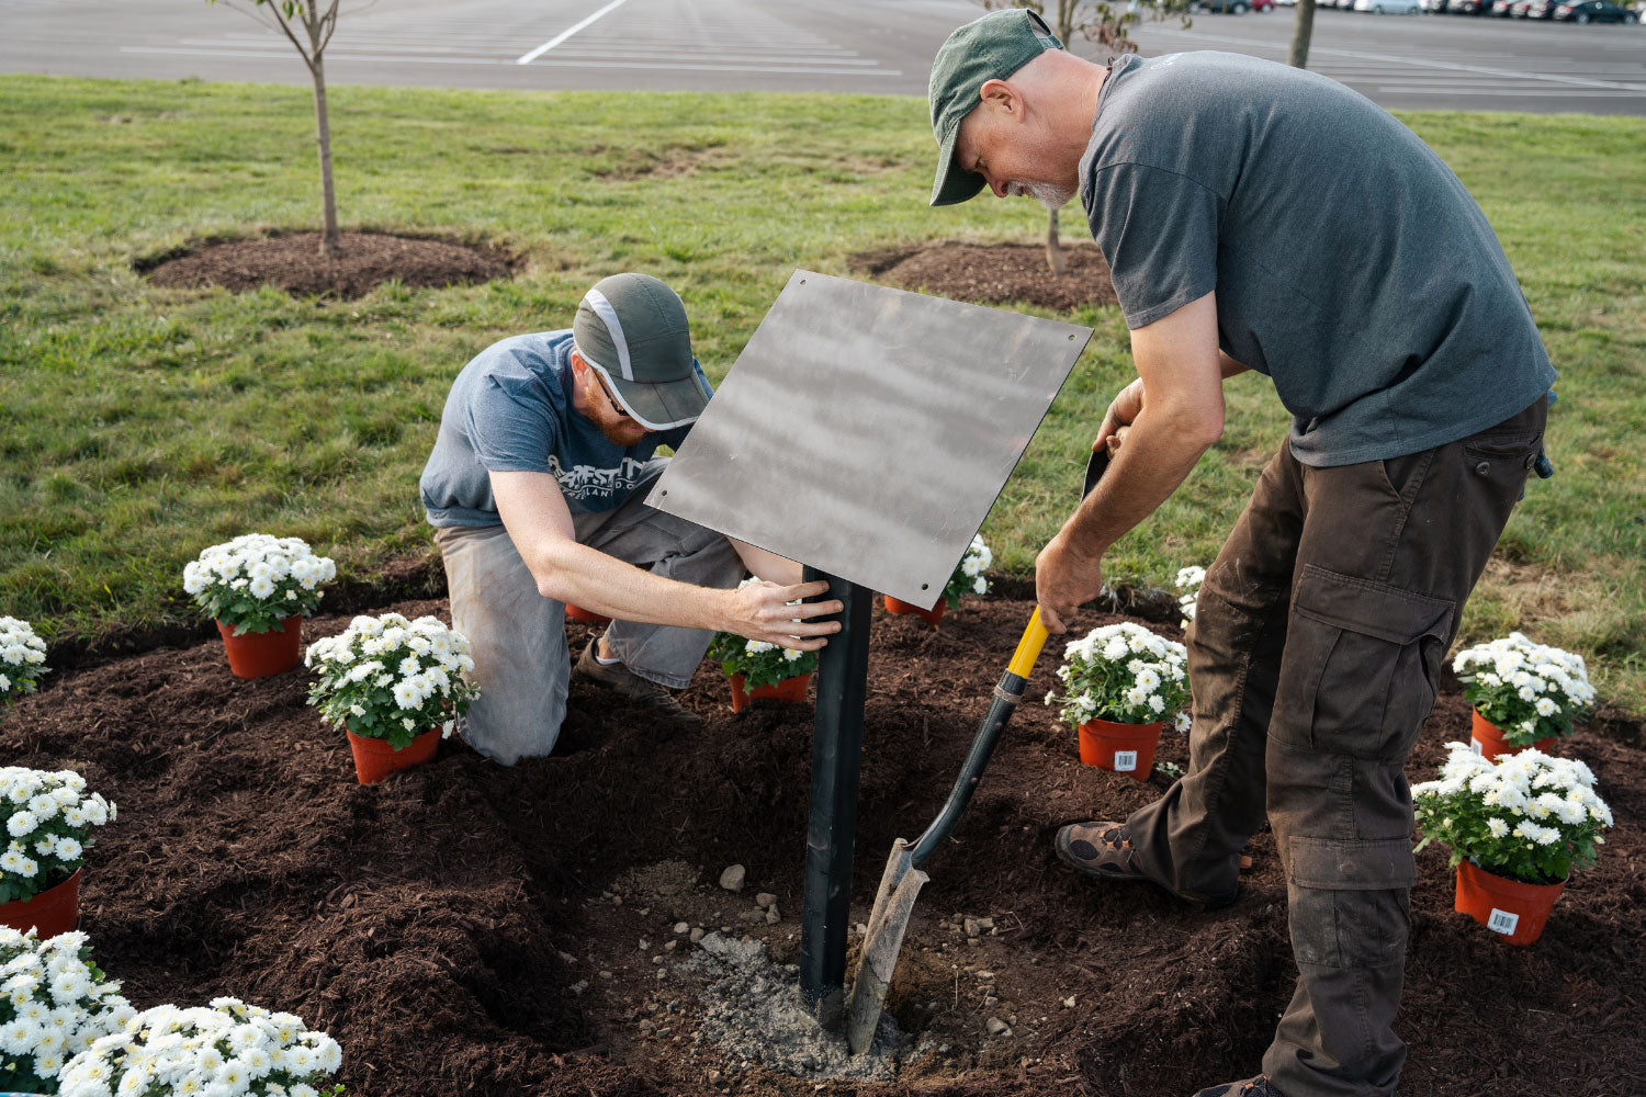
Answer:
<svg viewBox="0 0 1646 1097"><path fill-rule="evenodd" d="M1475 199L1325 76L1228 53L1123 56L1080 181L1128 327L1216 289L1218 342L1274 380L1304 464L1457 441L1555 378Z"/></svg>

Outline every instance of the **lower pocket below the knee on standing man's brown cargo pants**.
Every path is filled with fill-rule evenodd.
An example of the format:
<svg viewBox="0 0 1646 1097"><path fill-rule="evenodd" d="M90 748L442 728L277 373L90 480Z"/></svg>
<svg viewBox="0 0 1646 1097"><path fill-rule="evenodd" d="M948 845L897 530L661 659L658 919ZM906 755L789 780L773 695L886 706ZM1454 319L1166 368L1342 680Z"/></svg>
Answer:
<svg viewBox="0 0 1646 1097"><path fill-rule="evenodd" d="M1294 837L1287 903L1299 964L1363 967L1406 956L1412 844Z"/></svg>

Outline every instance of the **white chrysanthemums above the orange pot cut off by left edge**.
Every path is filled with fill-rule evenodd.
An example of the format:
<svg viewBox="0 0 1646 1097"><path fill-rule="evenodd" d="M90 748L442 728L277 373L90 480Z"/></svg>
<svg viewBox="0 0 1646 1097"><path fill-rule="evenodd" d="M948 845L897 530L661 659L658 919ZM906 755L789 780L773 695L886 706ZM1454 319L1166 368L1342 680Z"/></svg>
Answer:
<svg viewBox="0 0 1646 1097"><path fill-rule="evenodd" d="M94 844L92 827L110 822L115 806L87 793L86 778L72 770L3 766L0 817L0 903L16 903L72 877Z"/></svg>

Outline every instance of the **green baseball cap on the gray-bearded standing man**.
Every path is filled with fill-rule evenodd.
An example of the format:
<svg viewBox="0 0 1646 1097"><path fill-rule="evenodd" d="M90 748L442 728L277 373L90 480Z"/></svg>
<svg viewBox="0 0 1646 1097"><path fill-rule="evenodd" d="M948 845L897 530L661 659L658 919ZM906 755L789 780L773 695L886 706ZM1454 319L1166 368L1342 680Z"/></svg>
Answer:
<svg viewBox="0 0 1646 1097"><path fill-rule="evenodd" d="M973 20L948 36L932 59L932 133L937 137L937 183L932 206L953 206L983 189L983 176L955 164L960 122L978 105L989 81L1009 79L1047 49L1063 43L1029 8L1004 8Z"/></svg>

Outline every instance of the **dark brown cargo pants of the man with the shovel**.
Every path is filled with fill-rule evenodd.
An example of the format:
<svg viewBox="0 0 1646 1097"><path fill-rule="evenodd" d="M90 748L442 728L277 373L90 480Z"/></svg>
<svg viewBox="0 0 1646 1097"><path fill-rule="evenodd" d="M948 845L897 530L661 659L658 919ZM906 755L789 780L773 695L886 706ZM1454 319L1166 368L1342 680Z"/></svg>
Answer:
<svg viewBox="0 0 1646 1097"><path fill-rule="evenodd" d="M1546 414L1539 398L1472 437L1328 469L1282 444L1207 571L1188 771L1128 826L1149 878L1218 905L1267 812L1297 959L1262 1061L1284 1097L1394 1094L1401 1077L1404 763Z"/></svg>

